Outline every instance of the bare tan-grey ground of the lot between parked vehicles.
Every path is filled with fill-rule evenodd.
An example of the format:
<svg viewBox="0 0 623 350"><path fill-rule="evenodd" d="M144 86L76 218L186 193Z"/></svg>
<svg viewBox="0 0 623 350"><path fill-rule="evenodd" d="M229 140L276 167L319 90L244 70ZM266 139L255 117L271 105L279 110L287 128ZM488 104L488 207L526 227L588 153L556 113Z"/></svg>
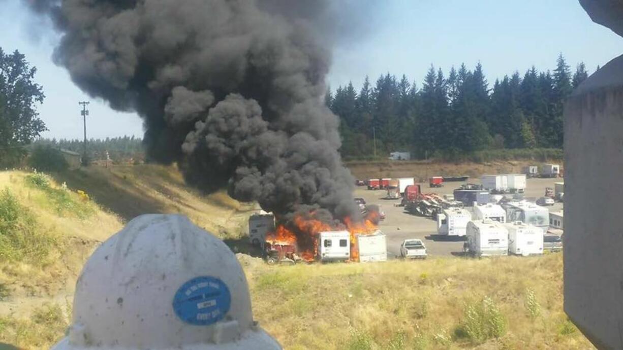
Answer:
<svg viewBox="0 0 623 350"><path fill-rule="evenodd" d="M478 179L470 179L470 183L480 183ZM535 201L545 194L545 188L554 188L555 182L563 182L562 178L530 178L526 183L526 200ZM441 188L429 188L428 183L421 183L423 193L437 193L438 195L452 194L455 188L459 188L461 182L447 182ZM429 218L414 216L406 211L404 207L395 206L400 200L385 199L386 191L368 190L366 187L357 187L354 196L364 198L368 205L376 204L383 208L386 219L379 225L381 231L387 235L388 256L396 257L400 255L400 244L407 238L419 238L426 244L429 255L449 256L459 254L463 251L464 241L447 241L437 236L437 222ZM547 207L550 212L563 209L563 203L556 203L554 206ZM471 210L471 208L467 208Z"/></svg>

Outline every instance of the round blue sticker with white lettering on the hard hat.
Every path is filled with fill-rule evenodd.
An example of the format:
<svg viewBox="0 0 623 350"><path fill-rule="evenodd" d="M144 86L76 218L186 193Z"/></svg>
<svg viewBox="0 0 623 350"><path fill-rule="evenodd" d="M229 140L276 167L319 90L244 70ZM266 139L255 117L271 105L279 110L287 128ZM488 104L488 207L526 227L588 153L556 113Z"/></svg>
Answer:
<svg viewBox="0 0 623 350"><path fill-rule="evenodd" d="M179 287L173 298L173 310L184 322L207 326L222 320L231 302L229 288L222 280L201 276Z"/></svg>

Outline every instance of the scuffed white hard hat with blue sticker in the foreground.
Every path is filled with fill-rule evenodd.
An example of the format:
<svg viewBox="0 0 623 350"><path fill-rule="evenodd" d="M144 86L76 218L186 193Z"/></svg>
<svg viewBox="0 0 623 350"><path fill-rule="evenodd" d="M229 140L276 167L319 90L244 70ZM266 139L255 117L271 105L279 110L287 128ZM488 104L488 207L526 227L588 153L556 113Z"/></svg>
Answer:
<svg viewBox="0 0 623 350"><path fill-rule="evenodd" d="M281 349L253 320L231 250L180 215L139 216L103 242L78 278L72 322L52 349Z"/></svg>

